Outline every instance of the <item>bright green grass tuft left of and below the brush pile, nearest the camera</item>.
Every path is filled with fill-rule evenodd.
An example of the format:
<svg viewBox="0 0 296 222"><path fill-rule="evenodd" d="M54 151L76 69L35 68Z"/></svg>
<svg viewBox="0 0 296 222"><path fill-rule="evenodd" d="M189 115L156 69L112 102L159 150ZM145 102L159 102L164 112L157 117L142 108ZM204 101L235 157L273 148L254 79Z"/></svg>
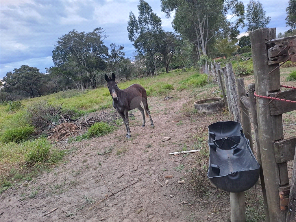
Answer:
<svg viewBox="0 0 296 222"><path fill-rule="evenodd" d="M40 137L35 141L26 141L23 143L23 146L27 149L25 162L28 164L35 165L36 163L45 163L49 160L52 144L47 139Z"/></svg>

